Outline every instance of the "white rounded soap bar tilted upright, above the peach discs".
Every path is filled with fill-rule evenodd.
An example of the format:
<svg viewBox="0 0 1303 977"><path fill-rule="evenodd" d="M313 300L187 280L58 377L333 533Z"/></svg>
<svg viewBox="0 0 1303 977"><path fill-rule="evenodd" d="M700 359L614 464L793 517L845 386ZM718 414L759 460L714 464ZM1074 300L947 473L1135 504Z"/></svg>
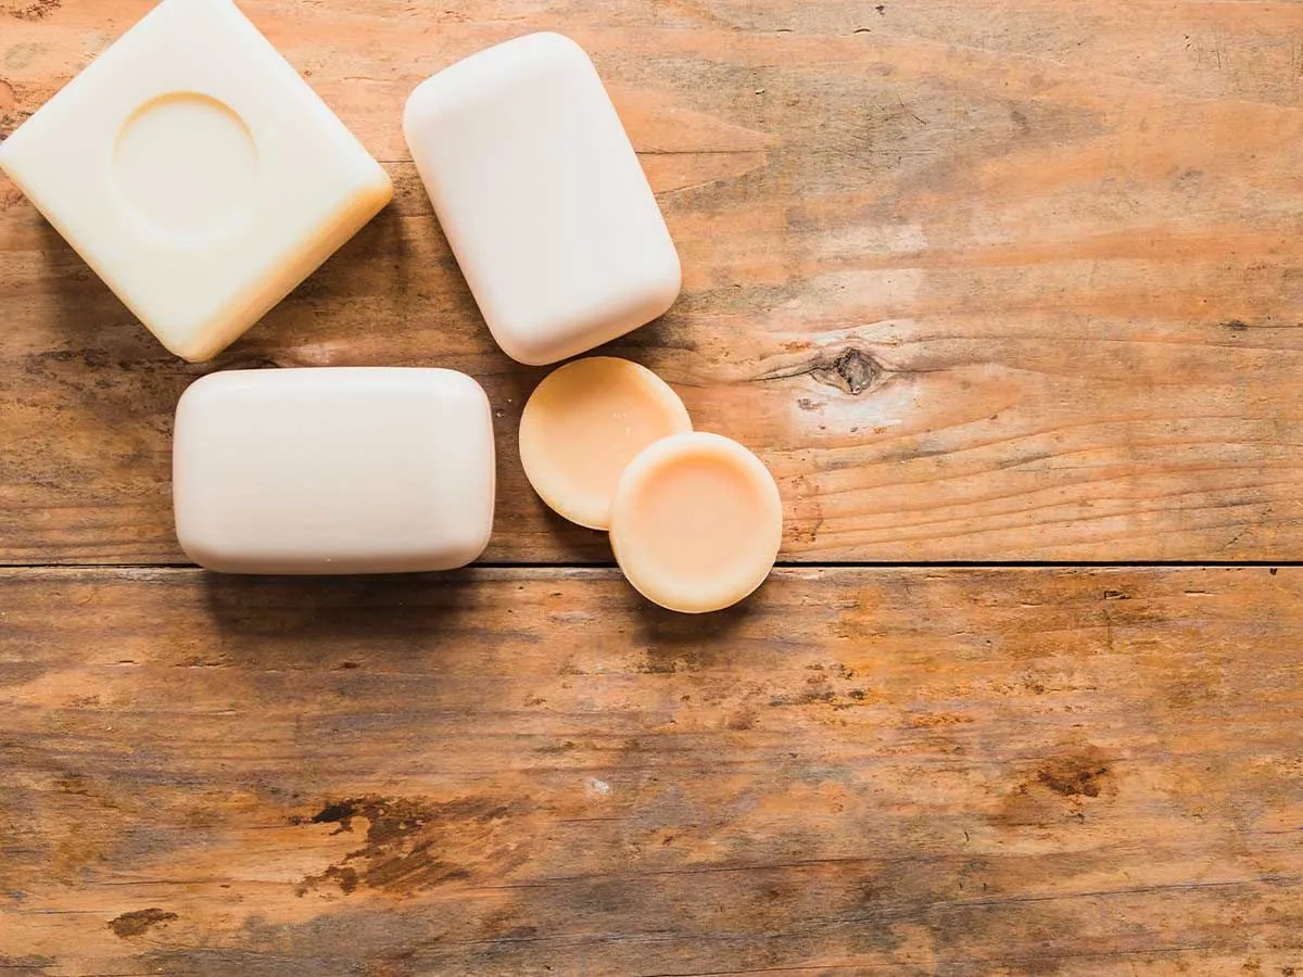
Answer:
<svg viewBox="0 0 1303 977"><path fill-rule="evenodd" d="M679 257L597 69L529 34L453 64L403 130L490 332L523 363L584 353L661 315Z"/></svg>

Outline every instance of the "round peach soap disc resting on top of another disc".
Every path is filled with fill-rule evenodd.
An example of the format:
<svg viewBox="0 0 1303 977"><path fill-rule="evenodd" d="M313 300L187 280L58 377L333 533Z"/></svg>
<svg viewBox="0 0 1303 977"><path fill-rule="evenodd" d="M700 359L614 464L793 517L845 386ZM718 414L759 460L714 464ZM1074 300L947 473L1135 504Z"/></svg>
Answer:
<svg viewBox="0 0 1303 977"><path fill-rule="evenodd" d="M704 614L741 601L778 558L783 507L764 462L718 434L652 444L620 477L611 548L649 601Z"/></svg>

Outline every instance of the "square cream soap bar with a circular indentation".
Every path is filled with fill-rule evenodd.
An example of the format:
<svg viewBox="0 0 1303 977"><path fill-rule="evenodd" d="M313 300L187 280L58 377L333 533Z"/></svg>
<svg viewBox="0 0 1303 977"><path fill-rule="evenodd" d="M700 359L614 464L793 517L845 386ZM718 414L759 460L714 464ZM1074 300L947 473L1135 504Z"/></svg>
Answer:
<svg viewBox="0 0 1303 977"><path fill-rule="evenodd" d="M216 356L392 197L229 0L163 0L0 168L169 350Z"/></svg>

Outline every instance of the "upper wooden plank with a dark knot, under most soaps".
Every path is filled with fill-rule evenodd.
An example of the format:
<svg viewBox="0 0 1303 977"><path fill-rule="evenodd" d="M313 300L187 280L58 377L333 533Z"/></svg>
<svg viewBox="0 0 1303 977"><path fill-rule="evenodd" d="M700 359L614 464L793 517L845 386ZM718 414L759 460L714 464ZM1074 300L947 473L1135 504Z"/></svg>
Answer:
<svg viewBox="0 0 1303 977"><path fill-rule="evenodd" d="M146 0L0 0L0 132ZM618 349L760 451L795 560L1303 552L1303 5L249 0L395 205L214 367L440 363L490 391L495 561L609 559L515 453L400 135L413 85L533 29L593 51L679 242ZM181 555L168 357L0 182L0 560Z"/></svg>

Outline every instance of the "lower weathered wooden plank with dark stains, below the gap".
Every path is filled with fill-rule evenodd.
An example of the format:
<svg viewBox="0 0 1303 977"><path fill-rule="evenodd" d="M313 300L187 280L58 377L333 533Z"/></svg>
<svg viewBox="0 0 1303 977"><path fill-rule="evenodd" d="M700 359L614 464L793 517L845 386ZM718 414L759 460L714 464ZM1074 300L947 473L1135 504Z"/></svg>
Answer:
<svg viewBox="0 0 1303 977"><path fill-rule="evenodd" d="M0 967L1287 974L1303 569L0 573ZM8 973L9 970L7 970Z"/></svg>

